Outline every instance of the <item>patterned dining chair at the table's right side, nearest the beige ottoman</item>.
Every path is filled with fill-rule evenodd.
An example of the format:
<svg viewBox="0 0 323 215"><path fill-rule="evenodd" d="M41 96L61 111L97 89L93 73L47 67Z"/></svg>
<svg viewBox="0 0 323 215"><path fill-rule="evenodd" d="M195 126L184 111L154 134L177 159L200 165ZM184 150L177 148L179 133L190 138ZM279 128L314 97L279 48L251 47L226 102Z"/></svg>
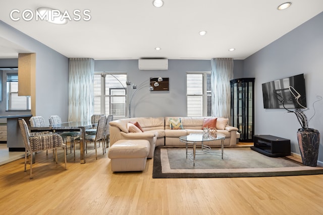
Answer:
<svg viewBox="0 0 323 215"><path fill-rule="evenodd" d="M86 142L86 146L85 146L85 150L87 153L87 143L88 142L94 142L94 149L95 149L95 159L97 160L97 152L96 152L96 142L102 140L102 151L103 151L103 155L105 153L105 141L104 141L104 131L105 131L105 125L106 125L106 117L105 115L101 116L97 122L97 129L95 134L86 134L85 135L85 142ZM77 141L82 141L81 136L76 138L75 140ZM75 147L74 147L74 160L75 160Z"/></svg>

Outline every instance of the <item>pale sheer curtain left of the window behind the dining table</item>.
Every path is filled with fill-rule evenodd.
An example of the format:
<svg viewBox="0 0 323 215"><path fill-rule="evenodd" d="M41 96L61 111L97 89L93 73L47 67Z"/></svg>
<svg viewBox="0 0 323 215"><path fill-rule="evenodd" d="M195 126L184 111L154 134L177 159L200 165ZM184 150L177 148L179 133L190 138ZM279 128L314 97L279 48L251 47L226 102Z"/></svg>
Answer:
<svg viewBox="0 0 323 215"><path fill-rule="evenodd" d="M69 121L88 121L93 114L94 59L69 59Z"/></svg>

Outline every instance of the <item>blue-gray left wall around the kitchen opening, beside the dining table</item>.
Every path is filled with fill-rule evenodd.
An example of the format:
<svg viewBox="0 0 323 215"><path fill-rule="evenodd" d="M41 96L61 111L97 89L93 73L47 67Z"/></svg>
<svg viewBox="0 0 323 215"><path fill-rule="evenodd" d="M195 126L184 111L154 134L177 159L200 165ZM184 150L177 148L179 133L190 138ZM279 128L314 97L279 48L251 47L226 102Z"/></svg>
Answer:
<svg viewBox="0 0 323 215"><path fill-rule="evenodd" d="M36 53L36 115L68 118L68 58L0 21L1 37ZM17 54L18 57L18 54ZM1 66L18 66L18 60L1 59ZM3 103L3 102L2 102ZM17 113L6 112L2 115Z"/></svg>

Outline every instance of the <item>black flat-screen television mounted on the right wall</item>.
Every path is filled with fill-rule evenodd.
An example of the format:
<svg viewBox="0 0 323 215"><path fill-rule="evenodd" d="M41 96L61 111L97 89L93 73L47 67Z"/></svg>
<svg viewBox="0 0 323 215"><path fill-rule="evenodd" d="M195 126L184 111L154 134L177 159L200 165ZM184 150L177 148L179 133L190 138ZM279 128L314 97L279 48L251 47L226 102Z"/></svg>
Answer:
<svg viewBox="0 0 323 215"><path fill-rule="evenodd" d="M300 95L298 102L295 100L297 93ZM307 107L304 74L262 84L262 97L263 107L267 109Z"/></svg>

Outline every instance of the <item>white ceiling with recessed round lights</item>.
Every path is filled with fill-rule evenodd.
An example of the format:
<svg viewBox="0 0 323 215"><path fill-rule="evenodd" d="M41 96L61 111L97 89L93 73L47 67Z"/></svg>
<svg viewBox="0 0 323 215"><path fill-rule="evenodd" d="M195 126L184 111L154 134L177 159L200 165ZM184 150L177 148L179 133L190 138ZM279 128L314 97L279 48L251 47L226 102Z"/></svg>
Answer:
<svg viewBox="0 0 323 215"><path fill-rule="evenodd" d="M152 0L0 1L0 20L67 57L95 59L245 59L323 11L322 0L292 0L284 11L277 10L284 0L164 0L162 8ZM21 17L39 7L67 10L72 18L76 9L90 10L91 19L66 25L10 19L14 9ZM2 58L23 49L9 39L0 33Z"/></svg>

